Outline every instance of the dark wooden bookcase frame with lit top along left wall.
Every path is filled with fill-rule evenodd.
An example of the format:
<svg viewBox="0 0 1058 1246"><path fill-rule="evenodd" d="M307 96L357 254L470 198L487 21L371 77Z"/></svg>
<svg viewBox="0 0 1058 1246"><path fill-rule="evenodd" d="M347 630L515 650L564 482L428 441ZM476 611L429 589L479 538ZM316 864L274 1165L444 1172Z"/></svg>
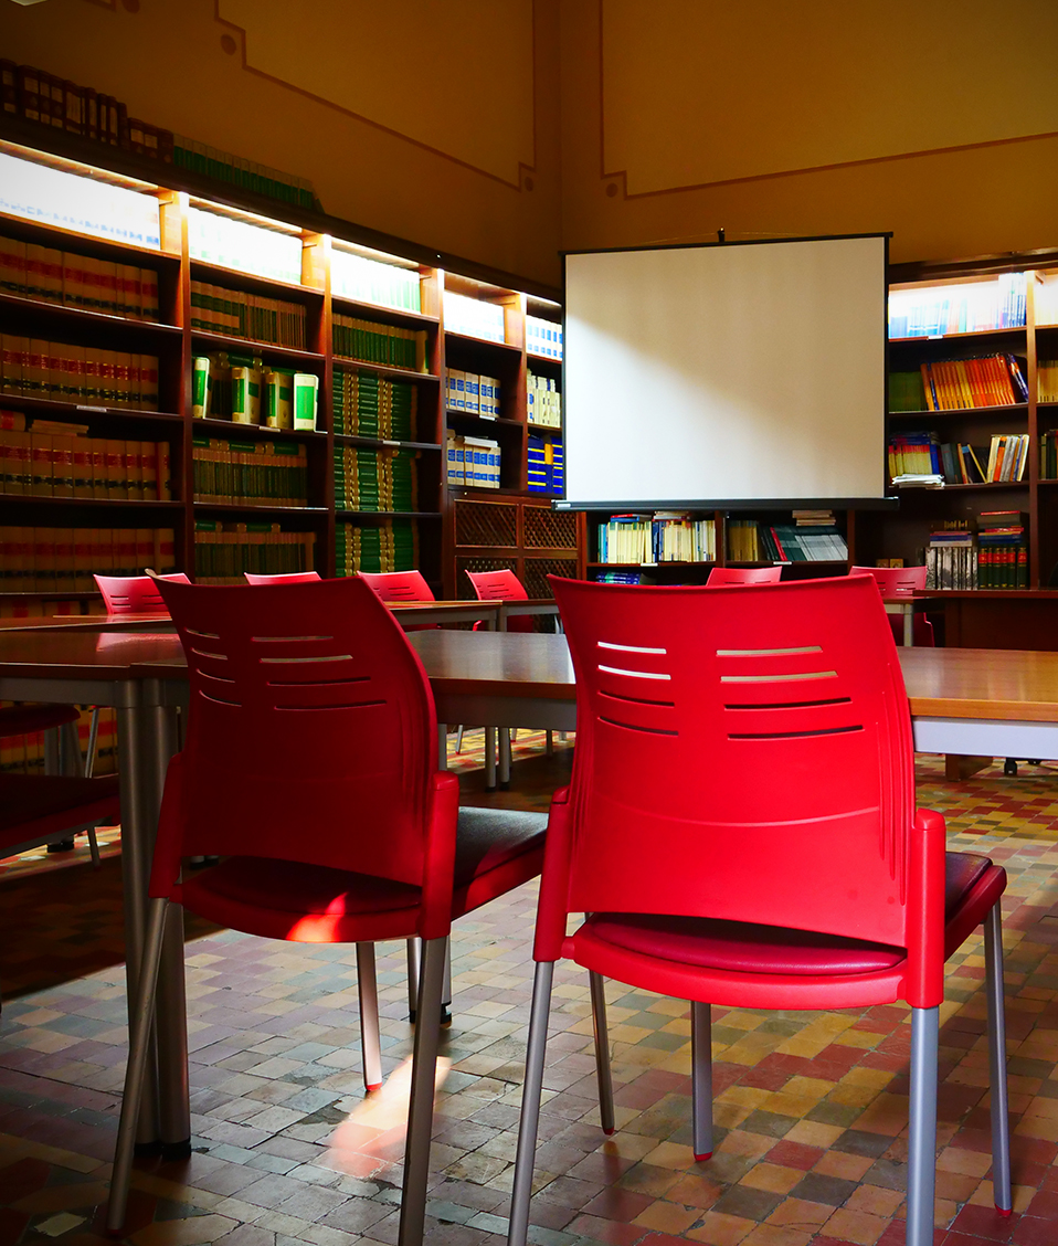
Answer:
<svg viewBox="0 0 1058 1246"><path fill-rule="evenodd" d="M0 146L9 155L32 159L34 152L26 150L24 140L17 150L2 142L4 132L9 128L0 127ZM14 137L21 138L21 133ZM64 168L75 176L91 176L90 169L77 163L83 146L74 142L70 136L60 135L54 140L50 133L42 135L40 143L41 150L49 152L47 163L51 167ZM354 530L378 530L391 520L407 520L415 533L417 564L439 596L470 596L469 582L462 576L466 567L475 569L510 564L520 576L532 581L532 596L547 593L546 576L552 571L576 574L579 557L577 520L555 515L546 497L527 496L528 300L525 293L513 288L513 282L502 284L493 274L485 274L472 264L466 265L465 274L446 269L440 265L449 257L441 257L436 252L431 253L434 264L437 265L434 267L424 262L426 257L422 248L398 244L390 253L391 267L404 270L406 283L414 284L417 280L420 310L375 303L366 297L350 294L345 287L339 293L331 289L335 248L385 265L386 255L380 254L379 248L383 235L293 208L288 223L279 224L277 231L300 248L302 280L243 270L227 262L218 263L216 259L192 254L189 222L193 211L206 211L253 224L254 218L247 213L255 208L259 211L259 204L249 202L252 197L241 202L234 189L218 188L216 198L209 198L208 189L196 183L193 177L186 176L184 171L160 166L157 162L137 161L127 152L112 153L97 145L91 145L90 155L96 166L101 158L108 161L113 156L115 166L120 166L115 168L117 173L138 178L136 183L130 182L130 187L157 202L160 249L82 234L59 223L49 224L42 219L24 219L9 214L0 216L0 235L93 260L157 272L158 319L127 319L70 303L34 299L4 290L0 274L0 333L11 336L32 334L41 340L75 348L95 346L157 356L160 409L135 410L102 401L67 402L52 395L14 391L0 394L0 409L20 412L26 417L27 425L34 419L87 425L88 437L92 439L168 442L172 501L41 497L0 492L0 526L70 528L79 525L150 525L172 528L176 569L186 571L193 577L196 531L203 521L219 521L232 526L279 523L284 532L315 533L315 569L329 576L335 573L338 548L346 532L345 528L339 531L339 525L350 525ZM61 159L56 161L56 156ZM87 163L86 158L85 164ZM169 174L168 186L155 183L156 178L167 178ZM237 211L239 208L244 209L242 216ZM270 204L268 216L274 221L282 211L284 209L277 204ZM192 282L232 290L241 297L260 297L304 308L305 349L207 331L198 324L192 326ZM498 309L503 340L492 341L446 325L446 290ZM542 295L535 297L542 299ZM543 303L547 304L547 300ZM551 314L557 320L557 304L547 305L553 309ZM425 335L425 370L339 355L333 331L335 316L368 321L378 326L379 331ZM265 369L274 366L314 374L319 383L317 429L273 429L216 416L193 417L192 360L196 355L217 353L260 358ZM560 365L555 360L538 363L533 359L532 363L535 368L550 368L558 375ZM497 378L501 388L501 417L484 420L467 412L447 412L444 385L446 368L486 373ZM358 394L361 392L361 378L368 388L371 384L394 385L414 391L415 416L410 436L388 436L384 432L376 435L374 429L361 434L350 431L348 424L344 432L335 431L335 391L339 385L348 386L355 380ZM407 389L401 392L406 394ZM364 409L359 410L363 415ZM502 456L500 490L449 487L449 430L471 436L495 436ZM547 431L557 434L558 430ZM284 441L303 447L308 470L307 505L288 506L279 498L267 496L232 502L196 500L193 442L201 439L253 445L262 455L270 454L273 446ZM343 462L348 462L343 452L349 451L354 455L412 454L415 508L386 511L373 505L359 506L350 501L349 493L338 497L336 505L335 454ZM360 462L359 459L356 461ZM345 497L344 505L341 497ZM487 526L476 531L475 541L467 545L456 535L460 507L466 508L464 515L467 515L481 505L506 510L507 520L498 527L493 525L491 536ZM462 530L466 530L466 520ZM492 537L497 535L502 537L503 545L492 543ZM203 540L206 538L199 535L199 543ZM460 578L462 584L459 583ZM77 596L88 594L60 592L62 598ZM0 604L14 603L16 599L57 598L47 587L41 587L39 592L4 593L0 581Z"/></svg>

